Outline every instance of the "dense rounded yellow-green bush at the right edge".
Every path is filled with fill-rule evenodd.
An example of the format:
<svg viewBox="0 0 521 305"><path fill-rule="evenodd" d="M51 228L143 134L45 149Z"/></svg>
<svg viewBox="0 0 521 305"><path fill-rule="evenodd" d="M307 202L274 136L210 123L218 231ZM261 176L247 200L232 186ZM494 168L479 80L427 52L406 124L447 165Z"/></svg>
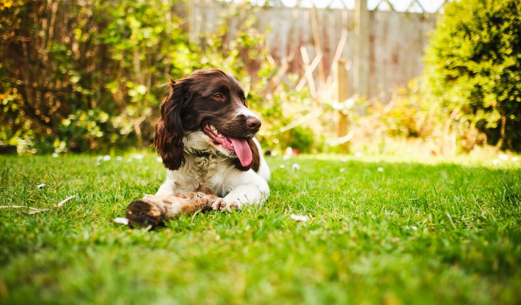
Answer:
<svg viewBox="0 0 521 305"><path fill-rule="evenodd" d="M458 126L485 133L491 145L519 151L520 71L519 1L457 1L445 7L431 36L423 93L430 108L451 115Z"/></svg>

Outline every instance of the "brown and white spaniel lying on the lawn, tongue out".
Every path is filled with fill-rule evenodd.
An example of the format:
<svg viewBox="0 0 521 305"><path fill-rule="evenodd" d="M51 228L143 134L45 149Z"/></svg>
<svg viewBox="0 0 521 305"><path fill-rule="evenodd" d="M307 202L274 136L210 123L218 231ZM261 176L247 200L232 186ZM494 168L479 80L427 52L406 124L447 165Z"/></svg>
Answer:
<svg viewBox="0 0 521 305"><path fill-rule="evenodd" d="M167 168L157 195L192 191L199 182L220 198L214 210L240 210L269 196L270 170L255 138L259 118L239 82L218 69L170 80L154 146Z"/></svg>

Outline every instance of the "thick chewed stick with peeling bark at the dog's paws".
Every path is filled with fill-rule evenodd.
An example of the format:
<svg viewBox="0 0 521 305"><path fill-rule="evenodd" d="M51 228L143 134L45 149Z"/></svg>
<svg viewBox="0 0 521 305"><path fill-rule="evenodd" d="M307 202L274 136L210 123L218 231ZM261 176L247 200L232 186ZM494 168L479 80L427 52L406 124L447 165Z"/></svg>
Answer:
<svg viewBox="0 0 521 305"><path fill-rule="evenodd" d="M193 214L199 210L209 209L217 198L219 196L202 183L188 193L146 195L141 200L131 202L127 208L127 219L130 225L155 227L180 214Z"/></svg>

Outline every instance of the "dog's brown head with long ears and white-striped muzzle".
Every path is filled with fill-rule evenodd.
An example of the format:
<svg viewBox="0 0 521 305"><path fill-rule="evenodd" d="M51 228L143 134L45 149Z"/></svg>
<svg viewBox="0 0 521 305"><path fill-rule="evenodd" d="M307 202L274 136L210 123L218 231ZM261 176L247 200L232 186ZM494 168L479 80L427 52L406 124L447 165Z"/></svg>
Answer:
<svg viewBox="0 0 521 305"><path fill-rule="evenodd" d="M261 121L248 109L237 80L218 69L197 70L168 86L154 136L166 168L182 167L183 151L220 154L243 171L256 166L252 138Z"/></svg>

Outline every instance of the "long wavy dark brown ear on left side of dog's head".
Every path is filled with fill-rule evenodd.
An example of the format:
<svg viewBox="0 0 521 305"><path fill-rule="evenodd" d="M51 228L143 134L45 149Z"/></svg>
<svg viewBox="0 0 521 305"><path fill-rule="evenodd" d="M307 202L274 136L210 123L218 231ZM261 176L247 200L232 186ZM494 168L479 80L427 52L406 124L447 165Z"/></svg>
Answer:
<svg viewBox="0 0 521 305"><path fill-rule="evenodd" d="M183 122L181 112L190 100L189 80L170 80L168 97L161 103L161 117L156 123L154 146L163 158L163 165L172 171L184 165Z"/></svg>

